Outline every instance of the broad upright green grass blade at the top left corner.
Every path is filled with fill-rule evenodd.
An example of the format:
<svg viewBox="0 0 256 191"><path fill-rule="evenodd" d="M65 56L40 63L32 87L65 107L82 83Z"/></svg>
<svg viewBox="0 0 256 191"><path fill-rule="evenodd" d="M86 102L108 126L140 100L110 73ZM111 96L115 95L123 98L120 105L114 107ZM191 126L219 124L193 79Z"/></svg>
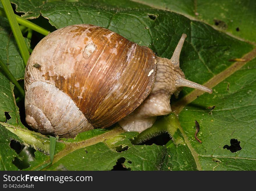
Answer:
<svg viewBox="0 0 256 191"><path fill-rule="evenodd" d="M6 17L9 21L10 27L13 31L14 38L17 42L20 54L22 56L23 62L26 65L27 61L29 59L29 51L26 46L26 43L24 41L24 38L22 36L22 33L19 29L19 24L16 20L15 14L13 12L13 8L11 6L11 3L9 0L1 0L1 3L3 5L3 10L6 14Z"/></svg>

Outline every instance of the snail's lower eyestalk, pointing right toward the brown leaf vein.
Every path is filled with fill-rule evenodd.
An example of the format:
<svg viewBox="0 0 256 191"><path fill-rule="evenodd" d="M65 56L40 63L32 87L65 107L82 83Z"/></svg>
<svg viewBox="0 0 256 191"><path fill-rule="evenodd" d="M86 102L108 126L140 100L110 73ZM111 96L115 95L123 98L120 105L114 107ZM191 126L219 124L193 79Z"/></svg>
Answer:
<svg viewBox="0 0 256 191"><path fill-rule="evenodd" d="M207 88L201 84L189 81L185 78L182 78L181 76L177 75L177 79L175 80L175 86L178 87L189 87L189 88L195 88L198 90L202 90L204 92L208 92L209 94L212 93L211 88Z"/></svg>

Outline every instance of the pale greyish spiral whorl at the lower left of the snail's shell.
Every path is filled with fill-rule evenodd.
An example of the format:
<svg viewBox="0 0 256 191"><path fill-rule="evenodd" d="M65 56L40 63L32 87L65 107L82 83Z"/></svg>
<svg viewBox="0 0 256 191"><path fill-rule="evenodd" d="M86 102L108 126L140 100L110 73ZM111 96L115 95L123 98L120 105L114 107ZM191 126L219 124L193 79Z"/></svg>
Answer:
<svg viewBox="0 0 256 191"><path fill-rule="evenodd" d="M47 82L35 81L29 85L25 110L26 122L42 134L70 138L93 129L74 101Z"/></svg>

